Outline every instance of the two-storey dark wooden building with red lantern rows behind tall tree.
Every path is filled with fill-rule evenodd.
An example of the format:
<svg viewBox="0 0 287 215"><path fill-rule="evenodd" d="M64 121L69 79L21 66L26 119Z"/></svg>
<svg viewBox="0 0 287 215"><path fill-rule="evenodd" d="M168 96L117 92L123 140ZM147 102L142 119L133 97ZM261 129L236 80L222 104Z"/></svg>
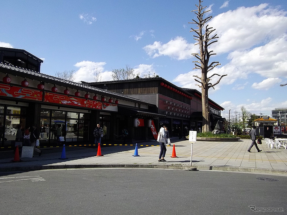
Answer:
<svg viewBox="0 0 287 215"><path fill-rule="evenodd" d="M195 89L178 87L161 77L84 84L128 95L156 105L158 113L163 115L159 118L159 123L168 126L173 135L182 134L183 136L190 129L198 130L202 127L201 93ZM211 128L214 129L218 120L225 120L221 117L221 111L224 108L212 100L209 100L209 104Z"/></svg>

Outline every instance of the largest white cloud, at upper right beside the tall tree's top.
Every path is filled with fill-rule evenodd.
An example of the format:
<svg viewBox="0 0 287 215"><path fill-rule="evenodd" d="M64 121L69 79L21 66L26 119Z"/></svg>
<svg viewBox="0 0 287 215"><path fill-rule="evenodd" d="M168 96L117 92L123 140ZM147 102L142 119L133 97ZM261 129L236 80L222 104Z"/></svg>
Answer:
<svg viewBox="0 0 287 215"><path fill-rule="evenodd" d="M285 11L260 4L221 13L208 24L216 29L215 33L219 36L213 46L213 50L219 54L249 49L277 38L286 32L287 17Z"/></svg>

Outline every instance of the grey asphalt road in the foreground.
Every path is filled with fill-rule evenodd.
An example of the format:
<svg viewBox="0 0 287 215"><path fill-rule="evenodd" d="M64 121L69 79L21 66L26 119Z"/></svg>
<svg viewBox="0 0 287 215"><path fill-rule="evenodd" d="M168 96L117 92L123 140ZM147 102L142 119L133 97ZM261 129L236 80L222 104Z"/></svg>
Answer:
<svg viewBox="0 0 287 215"><path fill-rule="evenodd" d="M2 173L0 214L286 214L286 190L287 177L237 172L101 168Z"/></svg>

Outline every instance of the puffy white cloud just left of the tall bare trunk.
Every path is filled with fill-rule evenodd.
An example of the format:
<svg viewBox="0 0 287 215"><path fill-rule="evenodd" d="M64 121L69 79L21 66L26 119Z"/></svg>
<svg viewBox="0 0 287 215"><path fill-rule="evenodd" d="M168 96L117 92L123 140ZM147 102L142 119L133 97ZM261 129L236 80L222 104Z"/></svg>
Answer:
<svg viewBox="0 0 287 215"><path fill-rule="evenodd" d="M186 39L180 36L171 39L166 44L155 41L153 44L145 46L144 50L153 58L164 55L177 60L192 58L191 54L198 52L198 49L194 46L194 44L189 44Z"/></svg>

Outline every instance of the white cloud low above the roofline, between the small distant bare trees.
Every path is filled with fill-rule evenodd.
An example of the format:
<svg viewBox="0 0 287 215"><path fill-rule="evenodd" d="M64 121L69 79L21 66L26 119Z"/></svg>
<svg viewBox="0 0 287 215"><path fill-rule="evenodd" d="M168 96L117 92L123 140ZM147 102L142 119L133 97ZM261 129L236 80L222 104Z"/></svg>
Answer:
<svg viewBox="0 0 287 215"><path fill-rule="evenodd" d="M79 70L75 72L75 82L86 81L94 82L94 73L98 70L101 71L101 81L111 81L112 72L104 71L104 65L106 62L92 62L92 61L82 61L77 62L74 66L79 67Z"/></svg>

